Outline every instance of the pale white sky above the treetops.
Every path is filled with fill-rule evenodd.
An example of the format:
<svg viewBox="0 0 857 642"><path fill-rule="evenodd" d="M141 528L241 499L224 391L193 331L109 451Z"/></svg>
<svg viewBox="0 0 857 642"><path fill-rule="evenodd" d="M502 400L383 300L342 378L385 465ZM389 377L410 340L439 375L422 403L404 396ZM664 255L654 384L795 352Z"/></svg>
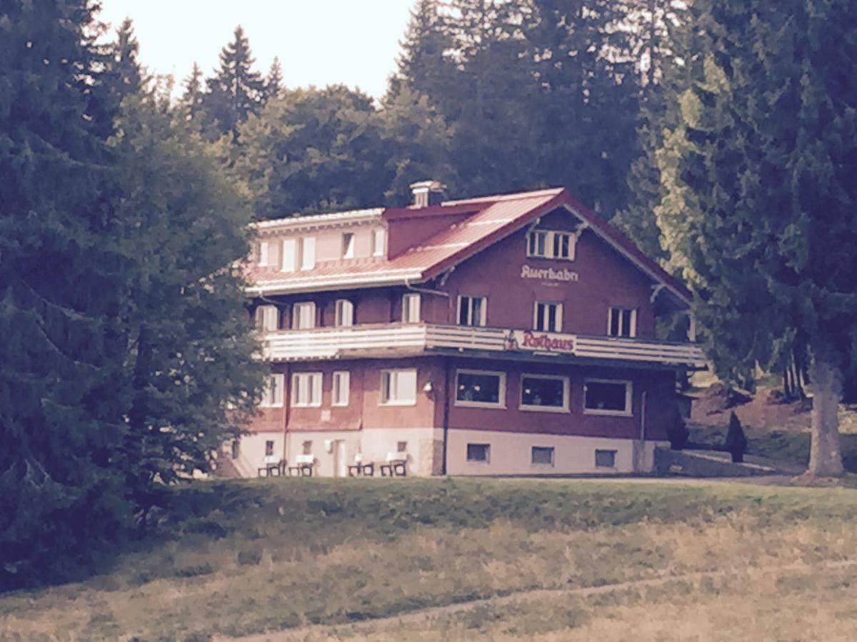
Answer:
<svg viewBox="0 0 857 642"><path fill-rule="evenodd" d="M149 73L172 74L177 85L194 62L213 75L240 24L255 68L267 74L279 56L285 86L344 83L380 98L415 1L101 0L99 17L111 33L125 17L134 21L140 62Z"/></svg>

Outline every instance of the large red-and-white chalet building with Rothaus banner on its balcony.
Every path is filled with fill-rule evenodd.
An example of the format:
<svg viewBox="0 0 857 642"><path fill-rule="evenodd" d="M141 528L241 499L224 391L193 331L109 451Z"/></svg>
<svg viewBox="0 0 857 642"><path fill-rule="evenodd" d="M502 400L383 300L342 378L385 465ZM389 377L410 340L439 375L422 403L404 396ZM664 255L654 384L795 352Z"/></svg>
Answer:
<svg viewBox="0 0 857 642"><path fill-rule="evenodd" d="M250 312L270 378L233 474L635 473L677 419L684 285L565 189L258 223ZM692 325L692 324L691 324Z"/></svg>

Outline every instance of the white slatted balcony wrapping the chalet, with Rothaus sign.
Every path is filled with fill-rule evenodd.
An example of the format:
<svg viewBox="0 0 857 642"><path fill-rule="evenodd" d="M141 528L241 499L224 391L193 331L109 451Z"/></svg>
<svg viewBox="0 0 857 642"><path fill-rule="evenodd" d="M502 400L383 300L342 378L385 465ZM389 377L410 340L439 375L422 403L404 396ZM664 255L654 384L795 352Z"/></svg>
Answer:
<svg viewBox="0 0 857 642"><path fill-rule="evenodd" d="M265 337L265 358L271 361L393 357L450 351L496 353L498 356L499 353L565 355L587 360L638 361L692 368L705 365L702 349L692 343L460 325L355 325L285 330L270 332Z"/></svg>

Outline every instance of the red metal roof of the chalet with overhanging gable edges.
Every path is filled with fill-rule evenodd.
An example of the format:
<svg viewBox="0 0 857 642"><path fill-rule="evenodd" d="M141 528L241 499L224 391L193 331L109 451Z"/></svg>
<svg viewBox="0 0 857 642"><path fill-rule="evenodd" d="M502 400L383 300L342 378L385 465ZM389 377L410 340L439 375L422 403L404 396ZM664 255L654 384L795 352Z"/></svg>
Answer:
<svg viewBox="0 0 857 642"><path fill-rule="evenodd" d="M423 282L560 206L566 206L585 223L589 223L590 229L597 235L655 281L666 285L680 299L691 299L690 291L682 282L668 274L654 259L640 252L625 235L578 203L561 187L448 201L443 205L423 208L387 208L381 213L381 218L390 223L402 218L437 217L443 214L469 216L464 220L460 216L456 217L454 220L457 223L450 224L393 259L324 262L316 264L312 270L293 273L270 267L253 267L248 276L255 287L250 288L250 293L279 294ZM315 218L322 223L324 217Z"/></svg>

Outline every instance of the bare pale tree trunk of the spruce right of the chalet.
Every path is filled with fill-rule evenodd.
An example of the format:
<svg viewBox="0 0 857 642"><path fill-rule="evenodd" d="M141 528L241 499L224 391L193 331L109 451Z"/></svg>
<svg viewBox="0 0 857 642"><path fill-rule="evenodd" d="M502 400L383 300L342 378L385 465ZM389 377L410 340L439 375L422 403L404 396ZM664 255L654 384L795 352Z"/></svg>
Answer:
<svg viewBox="0 0 857 642"><path fill-rule="evenodd" d="M839 400L842 372L816 356L812 360L812 444L806 473L818 477L839 477L843 473L839 447Z"/></svg>

